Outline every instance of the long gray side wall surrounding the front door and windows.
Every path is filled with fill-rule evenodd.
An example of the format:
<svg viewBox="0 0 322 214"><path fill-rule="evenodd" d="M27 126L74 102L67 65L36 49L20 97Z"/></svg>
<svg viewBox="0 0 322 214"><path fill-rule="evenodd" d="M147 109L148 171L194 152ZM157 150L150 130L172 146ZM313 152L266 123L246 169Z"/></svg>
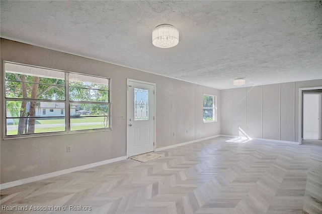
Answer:
<svg viewBox="0 0 322 214"><path fill-rule="evenodd" d="M220 134L220 102L218 122L202 120L203 94L220 101L219 90L5 39L1 39L3 60L111 78L112 131L3 140L4 114L0 114L1 183L125 156L126 120L118 115L126 117L127 78L156 83L156 148ZM3 78L1 65L1 85ZM0 112L4 112L3 90ZM71 152L66 152L67 145Z"/></svg>

